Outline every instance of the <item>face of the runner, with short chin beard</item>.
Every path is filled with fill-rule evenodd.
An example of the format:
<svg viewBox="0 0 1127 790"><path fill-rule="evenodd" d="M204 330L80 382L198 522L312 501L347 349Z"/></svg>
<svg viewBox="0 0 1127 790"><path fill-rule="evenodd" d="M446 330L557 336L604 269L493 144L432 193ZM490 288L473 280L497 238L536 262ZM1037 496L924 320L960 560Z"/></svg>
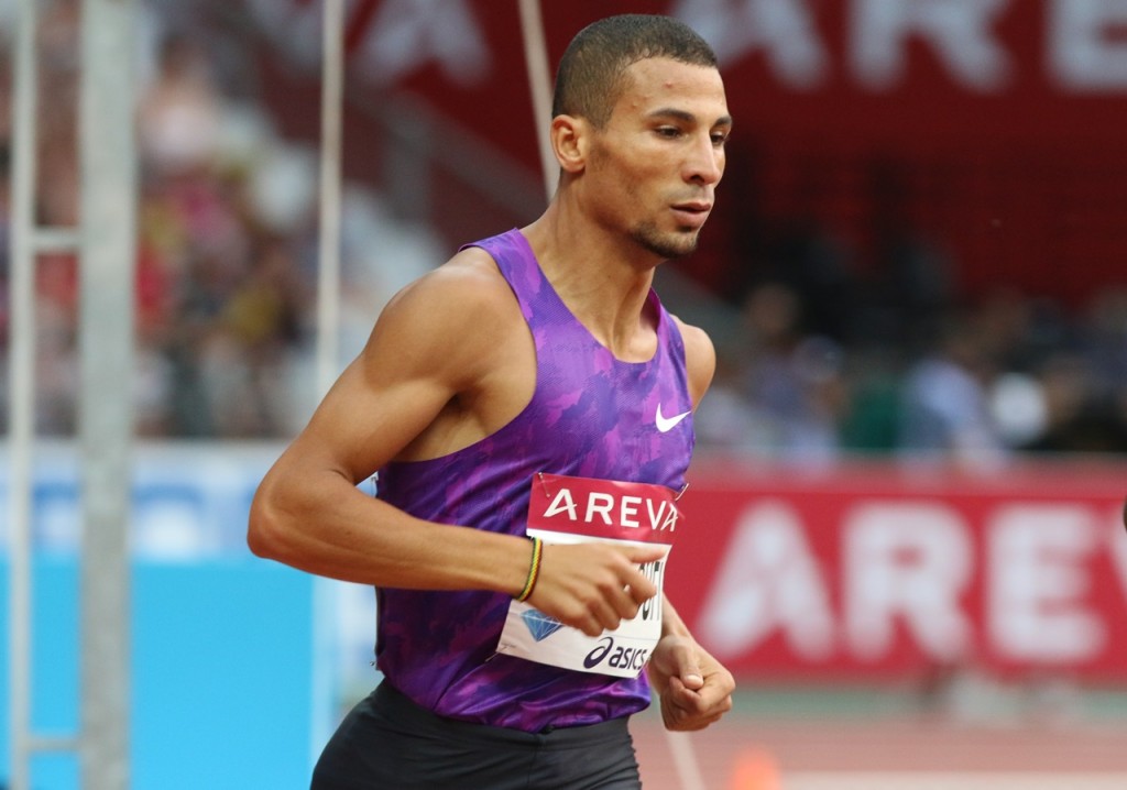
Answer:
<svg viewBox="0 0 1127 790"><path fill-rule="evenodd" d="M662 259L689 255L712 210L731 128L718 71L639 61L586 172L596 219Z"/></svg>

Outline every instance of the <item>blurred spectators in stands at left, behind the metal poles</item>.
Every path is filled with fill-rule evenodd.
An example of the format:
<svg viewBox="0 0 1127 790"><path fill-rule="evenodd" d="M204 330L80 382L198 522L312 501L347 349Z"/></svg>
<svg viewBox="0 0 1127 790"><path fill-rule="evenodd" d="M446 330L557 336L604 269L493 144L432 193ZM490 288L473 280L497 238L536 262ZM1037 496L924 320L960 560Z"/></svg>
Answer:
<svg viewBox="0 0 1127 790"><path fill-rule="evenodd" d="M78 0L53 0L43 6L39 20L35 211L37 224L46 228L72 228L79 218L79 7ZM9 64L12 42L5 44ZM246 55L178 19L175 6L143 16L134 54L140 74L132 392L137 433L291 435L317 397L317 151L278 133L256 98L254 64ZM0 105L9 110L11 74L3 77ZM0 145L10 170L10 113L2 118ZM9 216L6 190L6 239ZM378 195L346 185L343 354L358 350L382 303L412 274L411 261L431 255L426 249L408 255L411 245L425 246L426 239L420 242L412 232L397 245L394 229L385 227L391 223ZM389 256L392 261L378 252L389 241L397 250ZM0 349L7 357L7 243L0 255ZM71 254L39 255L36 263L36 429L42 435L72 435L76 428L77 265ZM7 360L0 376L7 383ZM8 390L0 396L5 401ZM0 415L7 429L8 409Z"/></svg>

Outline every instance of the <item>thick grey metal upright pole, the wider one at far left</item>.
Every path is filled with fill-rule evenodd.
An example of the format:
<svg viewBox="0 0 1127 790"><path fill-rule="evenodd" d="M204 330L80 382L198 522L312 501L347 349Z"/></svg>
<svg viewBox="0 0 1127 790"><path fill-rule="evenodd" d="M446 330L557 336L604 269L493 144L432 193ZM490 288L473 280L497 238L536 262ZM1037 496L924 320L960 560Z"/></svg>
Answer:
<svg viewBox="0 0 1127 790"><path fill-rule="evenodd" d="M83 0L79 92L83 790L130 785L136 0Z"/></svg>

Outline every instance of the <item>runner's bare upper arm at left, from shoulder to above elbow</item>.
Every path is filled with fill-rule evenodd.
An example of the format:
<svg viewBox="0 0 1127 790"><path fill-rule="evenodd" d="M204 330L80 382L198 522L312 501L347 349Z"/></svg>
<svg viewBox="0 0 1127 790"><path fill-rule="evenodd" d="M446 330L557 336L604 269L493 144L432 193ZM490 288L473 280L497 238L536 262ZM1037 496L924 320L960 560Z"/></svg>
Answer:
<svg viewBox="0 0 1127 790"><path fill-rule="evenodd" d="M471 444L496 427L499 410L518 408L506 399L523 397L507 373L518 350L514 321L515 300L489 260L471 258L409 286L385 308L294 451L358 482L391 460Z"/></svg>

